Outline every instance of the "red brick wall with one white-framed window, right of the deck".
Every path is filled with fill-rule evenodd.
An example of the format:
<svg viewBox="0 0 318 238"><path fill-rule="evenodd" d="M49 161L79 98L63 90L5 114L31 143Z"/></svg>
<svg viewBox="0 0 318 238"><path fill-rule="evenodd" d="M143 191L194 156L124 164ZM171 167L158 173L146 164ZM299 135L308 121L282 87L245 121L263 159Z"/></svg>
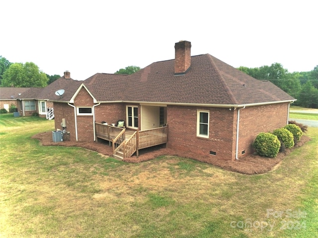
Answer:
<svg viewBox="0 0 318 238"><path fill-rule="evenodd" d="M209 138L196 136L197 110L210 111ZM168 148L216 156L231 160L233 157L234 113L223 108L199 108L168 106L167 124L169 126ZM210 155L210 151L216 155Z"/></svg>

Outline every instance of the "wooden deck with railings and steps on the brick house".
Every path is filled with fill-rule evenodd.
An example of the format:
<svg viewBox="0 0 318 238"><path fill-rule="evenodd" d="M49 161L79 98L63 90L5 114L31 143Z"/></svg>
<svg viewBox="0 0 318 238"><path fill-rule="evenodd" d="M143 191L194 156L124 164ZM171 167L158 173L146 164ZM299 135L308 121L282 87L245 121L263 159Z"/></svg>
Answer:
<svg viewBox="0 0 318 238"><path fill-rule="evenodd" d="M97 138L109 141L113 156L119 159L131 157L135 152L148 147L165 144L168 141L168 128L161 126L148 130L131 130L95 122Z"/></svg>

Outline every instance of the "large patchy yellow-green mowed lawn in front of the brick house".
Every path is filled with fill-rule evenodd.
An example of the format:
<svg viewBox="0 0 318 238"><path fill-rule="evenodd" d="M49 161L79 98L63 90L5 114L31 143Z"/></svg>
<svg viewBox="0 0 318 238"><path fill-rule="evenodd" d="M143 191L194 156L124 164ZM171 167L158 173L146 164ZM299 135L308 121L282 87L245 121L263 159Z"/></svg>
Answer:
<svg viewBox="0 0 318 238"><path fill-rule="evenodd" d="M318 128L256 176L175 156L128 164L30 138L50 130L53 121L0 115L1 238L318 237Z"/></svg>

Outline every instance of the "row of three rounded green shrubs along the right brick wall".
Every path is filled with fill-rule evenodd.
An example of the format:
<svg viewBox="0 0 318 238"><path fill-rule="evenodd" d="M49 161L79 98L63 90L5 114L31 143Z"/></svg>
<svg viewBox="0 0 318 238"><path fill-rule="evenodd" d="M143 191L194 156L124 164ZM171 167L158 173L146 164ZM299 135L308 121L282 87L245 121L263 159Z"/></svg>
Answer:
<svg viewBox="0 0 318 238"><path fill-rule="evenodd" d="M303 135L296 124L288 124L270 132L261 132L256 136L253 147L256 153L264 157L276 157L279 151L292 148Z"/></svg>

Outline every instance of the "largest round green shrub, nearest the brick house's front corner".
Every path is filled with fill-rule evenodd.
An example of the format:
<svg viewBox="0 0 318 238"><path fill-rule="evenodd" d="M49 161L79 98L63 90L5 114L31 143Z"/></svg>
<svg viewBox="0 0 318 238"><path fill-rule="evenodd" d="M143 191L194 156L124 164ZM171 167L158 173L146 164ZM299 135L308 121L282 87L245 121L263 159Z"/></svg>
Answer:
<svg viewBox="0 0 318 238"><path fill-rule="evenodd" d="M280 141L272 133L261 132L256 136L253 147L258 155L273 158L279 152Z"/></svg>

